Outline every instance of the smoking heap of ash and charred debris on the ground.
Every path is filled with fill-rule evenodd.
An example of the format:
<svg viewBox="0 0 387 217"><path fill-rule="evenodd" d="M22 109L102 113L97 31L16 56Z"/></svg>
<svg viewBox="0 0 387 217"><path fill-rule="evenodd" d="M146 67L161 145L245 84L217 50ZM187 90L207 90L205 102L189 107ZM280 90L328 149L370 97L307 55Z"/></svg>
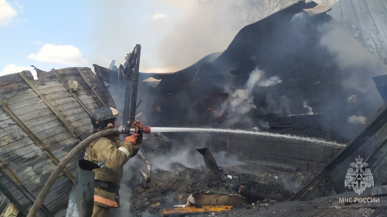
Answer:
<svg viewBox="0 0 387 217"><path fill-rule="evenodd" d="M314 175L274 164L245 164L241 158L224 152L212 150L212 155L209 148L171 151L150 147L144 154L155 168L152 181L146 183L139 176L127 181L132 192L130 213L134 216L219 213L249 209L252 204L267 207L291 198ZM218 166L217 161L225 166ZM140 163L134 167L142 168Z"/></svg>

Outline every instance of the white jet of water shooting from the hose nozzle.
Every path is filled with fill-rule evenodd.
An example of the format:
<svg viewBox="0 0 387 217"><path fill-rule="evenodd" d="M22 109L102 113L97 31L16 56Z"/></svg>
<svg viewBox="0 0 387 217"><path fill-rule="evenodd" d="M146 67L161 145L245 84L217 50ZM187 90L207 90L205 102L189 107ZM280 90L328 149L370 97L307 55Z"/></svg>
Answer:
<svg viewBox="0 0 387 217"><path fill-rule="evenodd" d="M336 142L325 141L325 140L315 139L311 137L292 136L287 134L276 134L276 133L262 132L262 131L244 131L239 129L233 130L233 129L213 129L213 128L151 127L151 132L216 132L216 133L231 133L231 134L250 134L250 135L265 136L265 137L300 140L300 141L313 142L313 143L323 143L323 144L330 144L330 145L342 146L342 147L345 146L345 144L339 144Z"/></svg>

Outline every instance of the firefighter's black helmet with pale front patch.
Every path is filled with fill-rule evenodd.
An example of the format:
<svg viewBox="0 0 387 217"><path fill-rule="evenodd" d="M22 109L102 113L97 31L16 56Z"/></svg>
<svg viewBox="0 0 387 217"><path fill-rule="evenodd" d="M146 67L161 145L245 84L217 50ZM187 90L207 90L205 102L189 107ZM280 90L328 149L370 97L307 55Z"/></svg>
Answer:
<svg viewBox="0 0 387 217"><path fill-rule="evenodd" d="M98 108L91 115L91 123L93 125L93 132L101 131L106 128L109 129L114 127L114 121L120 115L115 108L112 107L102 107Z"/></svg>

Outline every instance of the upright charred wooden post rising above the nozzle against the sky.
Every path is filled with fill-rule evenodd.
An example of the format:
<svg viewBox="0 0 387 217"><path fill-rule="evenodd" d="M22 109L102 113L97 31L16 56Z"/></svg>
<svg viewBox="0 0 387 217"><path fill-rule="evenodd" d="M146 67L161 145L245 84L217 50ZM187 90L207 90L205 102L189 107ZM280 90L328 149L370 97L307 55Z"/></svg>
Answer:
<svg viewBox="0 0 387 217"><path fill-rule="evenodd" d="M140 69L140 54L141 54L141 45L136 44L136 64L134 65L134 69L133 69L132 96L130 98L130 114L129 114L130 123L134 122L134 119L136 116L137 87L139 84L139 69Z"/></svg>

